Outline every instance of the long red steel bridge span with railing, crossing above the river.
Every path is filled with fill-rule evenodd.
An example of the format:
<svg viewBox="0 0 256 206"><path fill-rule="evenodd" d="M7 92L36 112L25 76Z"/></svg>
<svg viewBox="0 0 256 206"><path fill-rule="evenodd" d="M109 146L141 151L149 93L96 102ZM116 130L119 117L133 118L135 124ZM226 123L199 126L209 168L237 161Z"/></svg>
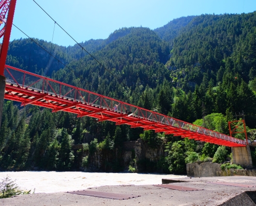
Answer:
<svg viewBox="0 0 256 206"><path fill-rule="evenodd" d="M116 125L130 125L155 130L193 140L228 147L243 147L246 142L216 131L180 121L179 119L146 110L123 101L90 92L47 77L5 65L5 99L65 111L78 117L91 116Z"/></svg>

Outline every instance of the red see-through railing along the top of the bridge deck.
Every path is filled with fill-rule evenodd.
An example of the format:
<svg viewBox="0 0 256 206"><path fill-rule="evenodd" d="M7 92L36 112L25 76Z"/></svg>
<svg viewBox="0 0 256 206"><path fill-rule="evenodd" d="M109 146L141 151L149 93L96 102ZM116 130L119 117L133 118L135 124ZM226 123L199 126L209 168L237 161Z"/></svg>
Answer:
<svg viewBox="0 0 256 206"><path fill-rule="evenodd" d="M182 129L191 132L195 136L197 134L217 138L233 143L246 145L245 141L233 138L232 136L221 134L197 125L193 125L179 119L159 114L154 111L146 110L111 97L103 96L94 92L90 92L72 85L59 82L47 77L26 72L9 65L5 66L5 77L7 82L18 88L26 90L40 91L58 98L69 99L74 102L81 102L88 106L99 107L113 112L127 114L131 117L137 117L152 122L152 124L166 125L170 130ZM136 118L134 118L136 119ZM138 119L138 122L139 122ZM168 131L165 131L168 133Z"/></svg>

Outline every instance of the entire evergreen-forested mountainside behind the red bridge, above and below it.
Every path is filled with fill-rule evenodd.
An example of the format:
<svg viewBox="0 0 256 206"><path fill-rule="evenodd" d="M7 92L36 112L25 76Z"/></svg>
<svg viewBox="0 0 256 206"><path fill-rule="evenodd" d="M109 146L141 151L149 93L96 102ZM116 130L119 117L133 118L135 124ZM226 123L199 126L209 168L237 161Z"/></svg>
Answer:
<svg viewBox="0 0 256 206"><path fill-rule="evenodd" d="M29 39L10 43L7 64L227 134L233 114L244 111L247 125L255 128L256 12L188 16L154 31L122 28L106 40L81 43L103 66L78 45L35 41L68 66L49 61L49 54ZM74 170L78 154L72 144L98 141L99 149L114 152L138 138L152 147L165 144L170 152L159 165L171 173L184 172L184 153L207 159L218 148L35 106L19 110L6 101L0 169Z"/></svg>

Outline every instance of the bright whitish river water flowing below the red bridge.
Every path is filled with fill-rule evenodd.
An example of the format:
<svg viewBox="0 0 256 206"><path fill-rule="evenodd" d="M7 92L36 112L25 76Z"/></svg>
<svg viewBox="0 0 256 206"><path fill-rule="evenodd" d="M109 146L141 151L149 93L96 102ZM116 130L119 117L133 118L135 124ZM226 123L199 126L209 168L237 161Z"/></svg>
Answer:
<svg viewBox="0 0 256 206"><path fill-rule="evenodd" d="M23 190L35 193L55 193L85 190L88 187L106 185L161 184L162 178L185 178L186 176L137 173L83 173L80 171L2 171L0 179L9 176Z"/></svg>

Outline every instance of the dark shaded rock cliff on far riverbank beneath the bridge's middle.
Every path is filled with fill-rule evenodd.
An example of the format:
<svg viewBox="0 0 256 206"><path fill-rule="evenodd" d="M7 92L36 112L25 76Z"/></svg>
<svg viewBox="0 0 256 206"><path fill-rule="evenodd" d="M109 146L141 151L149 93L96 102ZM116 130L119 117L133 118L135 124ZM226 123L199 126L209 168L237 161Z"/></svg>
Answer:
<svg viewBox="0 0 256 206"><path fill-rule="evenodd" d="M125 144L126 145L126 144ZM115 150L97 149L93 154L88 151L82 153L82 158L89 156L87 166L80 169L84 171L124 171L129 165L137 171L157 171L157 162L168 154L164 152L164 146L150 148L143 140L127 143L127 147ZM132 146L133 145L133 146Z"/></svg>

